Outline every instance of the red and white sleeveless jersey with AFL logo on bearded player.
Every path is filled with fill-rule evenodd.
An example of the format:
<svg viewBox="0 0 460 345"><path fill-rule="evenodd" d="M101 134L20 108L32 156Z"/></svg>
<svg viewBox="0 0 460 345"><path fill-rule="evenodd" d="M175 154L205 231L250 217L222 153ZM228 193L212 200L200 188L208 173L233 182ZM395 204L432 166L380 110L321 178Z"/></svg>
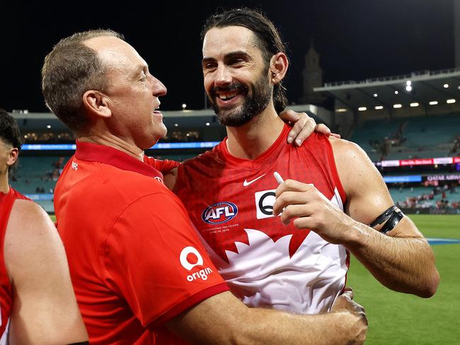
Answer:
<svg viewBox="0 0 460 345"><path fill-rule="evenodd" d="M347 250L272 216L278 186L273 172L284 180L313 183L342 210L345 192L326 136L311 134L296 147L287 144L288 133L285 125L255 160L231 156L224 139L180 165L174 192L219 273L246 305L325 312L345 287Z"/></svg>

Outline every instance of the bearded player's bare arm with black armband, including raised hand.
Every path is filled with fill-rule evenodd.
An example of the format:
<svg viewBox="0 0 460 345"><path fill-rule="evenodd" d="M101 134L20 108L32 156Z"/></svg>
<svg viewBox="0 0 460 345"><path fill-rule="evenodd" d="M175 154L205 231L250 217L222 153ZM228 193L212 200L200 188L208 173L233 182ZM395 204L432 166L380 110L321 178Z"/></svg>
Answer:
<svg viewBox="0 0 460 345"><path fill-rule="evenodd" d="M432 296L439 283L430 245L409 218L386 235L366 224L393 205L381 175L362 149L330 139L340 180L347 194L344 214L313 185L287 180L277 189L273 212L282 209L283 223L310 228L331 243L342 244L384 286L395 291Z"/></svg>

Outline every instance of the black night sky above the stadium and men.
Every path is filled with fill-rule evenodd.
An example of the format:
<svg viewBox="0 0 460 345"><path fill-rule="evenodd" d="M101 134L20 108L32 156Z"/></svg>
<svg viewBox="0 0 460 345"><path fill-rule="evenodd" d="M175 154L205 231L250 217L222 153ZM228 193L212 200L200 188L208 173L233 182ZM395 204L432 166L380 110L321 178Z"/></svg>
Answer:
<svg viewBox="0 0 460 345"><path fill-rule="evenodd" d="M362 80L454 67L454 0L10 1L0 4L0 107L47 111L40 68L62 37L111 28L168 88L162 110L204 107L200 30L218 6L262 8L287 42L289 102L302 91L311 39L323 81Z"/></svg>

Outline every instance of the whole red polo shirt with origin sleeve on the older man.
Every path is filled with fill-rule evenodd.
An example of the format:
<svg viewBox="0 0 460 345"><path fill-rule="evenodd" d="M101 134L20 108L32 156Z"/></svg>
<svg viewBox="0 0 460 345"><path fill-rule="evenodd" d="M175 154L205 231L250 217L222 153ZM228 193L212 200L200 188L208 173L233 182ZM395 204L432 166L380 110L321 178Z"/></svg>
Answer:
<svg viewBox="0 0 460 345"><path fill-rule="evenodd" d="M77 141L57 182L57 228L91 344L180 344L163 322L228 290L162 177Z"/></svg>

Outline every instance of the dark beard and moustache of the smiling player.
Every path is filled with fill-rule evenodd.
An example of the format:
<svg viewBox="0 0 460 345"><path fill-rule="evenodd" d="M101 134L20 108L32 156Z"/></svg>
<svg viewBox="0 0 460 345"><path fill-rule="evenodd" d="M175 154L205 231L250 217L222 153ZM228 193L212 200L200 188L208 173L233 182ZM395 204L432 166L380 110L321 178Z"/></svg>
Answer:
<svg viewBox="0 0 460 345"><path fill-rule="evenodd" d="M216 113L216 117L220 124L229 127L240 127L243 124L247 124L255 116L259 115L270 103L272 97L272 88L266 81L265 75L261 74L260 77L255 81L253 85L253 95L248 95L248 88L243 86L241 83L233 84L224 88L214 88L209 96L211 101L212 109ZM216 102L216 90L240 90L246 92L246 98L241 107L232 110L222 110L219 108Z"/></svg>

